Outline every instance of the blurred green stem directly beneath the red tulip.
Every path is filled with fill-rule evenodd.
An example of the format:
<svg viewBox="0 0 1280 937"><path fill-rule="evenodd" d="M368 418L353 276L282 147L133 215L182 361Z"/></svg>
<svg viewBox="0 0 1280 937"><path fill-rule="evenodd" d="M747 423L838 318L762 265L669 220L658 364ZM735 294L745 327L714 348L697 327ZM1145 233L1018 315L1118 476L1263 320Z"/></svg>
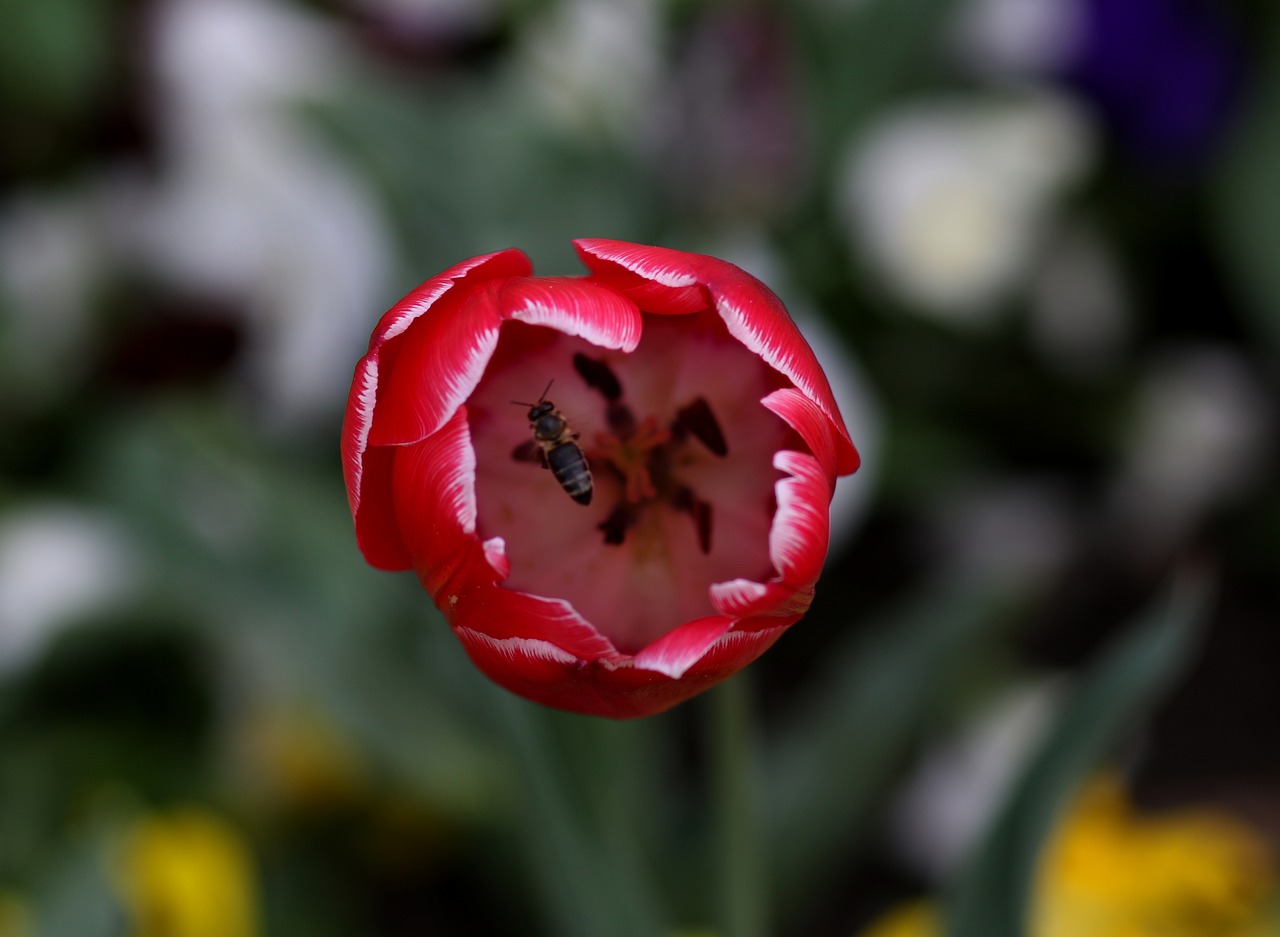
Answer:
<svg viewBox="0 0 1280 937"><path fill-rule="evenodd" d="M712 795L718 827L719 923L724 937L764 937L767 896L751 681L745 673L712 694Z"/></svg>

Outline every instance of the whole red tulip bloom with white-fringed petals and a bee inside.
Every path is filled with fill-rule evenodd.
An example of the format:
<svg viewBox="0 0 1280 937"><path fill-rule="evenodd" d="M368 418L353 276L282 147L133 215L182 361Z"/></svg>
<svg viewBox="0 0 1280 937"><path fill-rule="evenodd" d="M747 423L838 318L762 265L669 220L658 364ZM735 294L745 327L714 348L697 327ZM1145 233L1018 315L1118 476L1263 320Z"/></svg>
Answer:
<svg viewBox="0 0 1280 937"><path fill-rule="evenodd" d="M759 280L696 253L575 243L585 278L532 276L499 251L381 317L347 402L347 497L365 558L415 570L494 681L648 716L804 614L835 479L859 457Z"/></svg>

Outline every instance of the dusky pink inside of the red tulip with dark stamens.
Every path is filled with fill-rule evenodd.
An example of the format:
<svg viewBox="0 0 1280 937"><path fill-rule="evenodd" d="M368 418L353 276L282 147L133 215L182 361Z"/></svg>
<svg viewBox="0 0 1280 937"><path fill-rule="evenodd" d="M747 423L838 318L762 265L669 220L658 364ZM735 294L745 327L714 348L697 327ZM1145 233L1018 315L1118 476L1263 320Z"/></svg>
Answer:
<svg viewBox="0 0 1280 937"><path fill-rule="evenodd" d="M782 383L713 312L645 315L630 355L506 324L467 402L476 533L503 539L503 585L566 599L634 653L716 614L714 582L769 579L773 453L796 442L760 399ZM529 408L512 402L539 392L564 421L550 443L589 466L589 504L556 467L571 452L532 452Z"/></svg>

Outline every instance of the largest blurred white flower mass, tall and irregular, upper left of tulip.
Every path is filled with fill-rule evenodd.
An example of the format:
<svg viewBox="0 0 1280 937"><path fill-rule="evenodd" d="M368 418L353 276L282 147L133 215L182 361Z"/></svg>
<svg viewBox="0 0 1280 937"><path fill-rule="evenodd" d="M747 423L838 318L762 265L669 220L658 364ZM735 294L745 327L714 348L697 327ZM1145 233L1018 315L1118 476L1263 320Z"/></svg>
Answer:
<svg viewBox="0 0 1280 937"><path fill-rule="evenodd" d="M326 23L264 0L170 0L154 36L164 172L119 191L134 262L247 302L259 412L340 406L390 247L362 180L294 110L349 64Z"/></svg>

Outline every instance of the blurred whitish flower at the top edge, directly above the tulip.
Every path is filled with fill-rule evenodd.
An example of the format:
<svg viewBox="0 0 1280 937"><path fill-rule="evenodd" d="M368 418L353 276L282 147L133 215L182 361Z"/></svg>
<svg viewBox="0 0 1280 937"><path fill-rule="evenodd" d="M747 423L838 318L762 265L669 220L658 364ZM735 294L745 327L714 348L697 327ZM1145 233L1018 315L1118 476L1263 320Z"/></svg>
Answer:
<svg viewBox="0 0 1280 937"><path fill-rule="evenodd" d="M653 122L659 46L654 0L562 0L529 27L516 68L561 127L637 143Z"/></svg>

